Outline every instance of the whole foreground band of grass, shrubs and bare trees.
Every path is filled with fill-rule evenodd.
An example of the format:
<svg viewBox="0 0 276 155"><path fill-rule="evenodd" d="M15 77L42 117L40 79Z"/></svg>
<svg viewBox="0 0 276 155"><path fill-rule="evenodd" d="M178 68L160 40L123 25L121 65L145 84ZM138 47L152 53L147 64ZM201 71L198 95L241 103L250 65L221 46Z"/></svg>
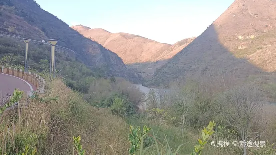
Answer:
<svg viewBox="0 0 276 155"><path fill-rule="evenodd" d="M274 95L272 84L214 81L172 83L173 93L146 97L117 77L93 79L85 94L53 79L45 94L20 99L27 109L1 119L1 154L275 154L275 105L262 95ZM145 111L137 107L142 102ZM218 147L220 140L229 147ZM245 149L233 140L265 147Z"/></svg>

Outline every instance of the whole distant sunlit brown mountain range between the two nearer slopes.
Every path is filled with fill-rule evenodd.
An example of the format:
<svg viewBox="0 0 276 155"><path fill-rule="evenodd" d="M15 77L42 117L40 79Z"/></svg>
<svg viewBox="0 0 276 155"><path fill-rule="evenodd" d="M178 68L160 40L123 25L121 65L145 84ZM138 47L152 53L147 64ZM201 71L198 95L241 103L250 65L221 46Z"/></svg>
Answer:
<svg viewBox="0 0 276 155"><path fill-rule="evenodd" d="M170 45L128 33L110 33L101 28L91 29L82 25L71 28L115 52L125 64L141 72L155 72L194 39L188 38Z"/></svg>

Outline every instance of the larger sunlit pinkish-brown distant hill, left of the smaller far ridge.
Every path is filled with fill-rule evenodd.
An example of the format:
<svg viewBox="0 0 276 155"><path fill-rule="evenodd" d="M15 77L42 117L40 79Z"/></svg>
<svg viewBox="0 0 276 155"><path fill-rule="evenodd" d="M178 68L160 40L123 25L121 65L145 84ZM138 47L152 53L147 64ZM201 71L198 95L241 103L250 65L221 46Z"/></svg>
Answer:
<svg viewBox="0 0 276 155"><path fill-rule="evenodd" d="M138 35L110 33L104 29L82 30L83 26L72 26L87 38L97 41L105 48L118 54L124 63L148 62L156 54L163 53L171 45L159 43Z"/></svg>

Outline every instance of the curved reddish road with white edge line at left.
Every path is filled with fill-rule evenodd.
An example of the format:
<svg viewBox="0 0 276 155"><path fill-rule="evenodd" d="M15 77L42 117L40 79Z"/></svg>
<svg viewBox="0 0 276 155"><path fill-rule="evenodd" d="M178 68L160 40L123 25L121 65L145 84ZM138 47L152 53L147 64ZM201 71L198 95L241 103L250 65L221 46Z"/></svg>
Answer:
<svg viewBox="0 0 276 155"><path fill-rule="evenodd" d="M23 79L0 73L0 97L6 96L7 93L12 95L15 88L25 92L36 90L33 84Z"/></svg>

